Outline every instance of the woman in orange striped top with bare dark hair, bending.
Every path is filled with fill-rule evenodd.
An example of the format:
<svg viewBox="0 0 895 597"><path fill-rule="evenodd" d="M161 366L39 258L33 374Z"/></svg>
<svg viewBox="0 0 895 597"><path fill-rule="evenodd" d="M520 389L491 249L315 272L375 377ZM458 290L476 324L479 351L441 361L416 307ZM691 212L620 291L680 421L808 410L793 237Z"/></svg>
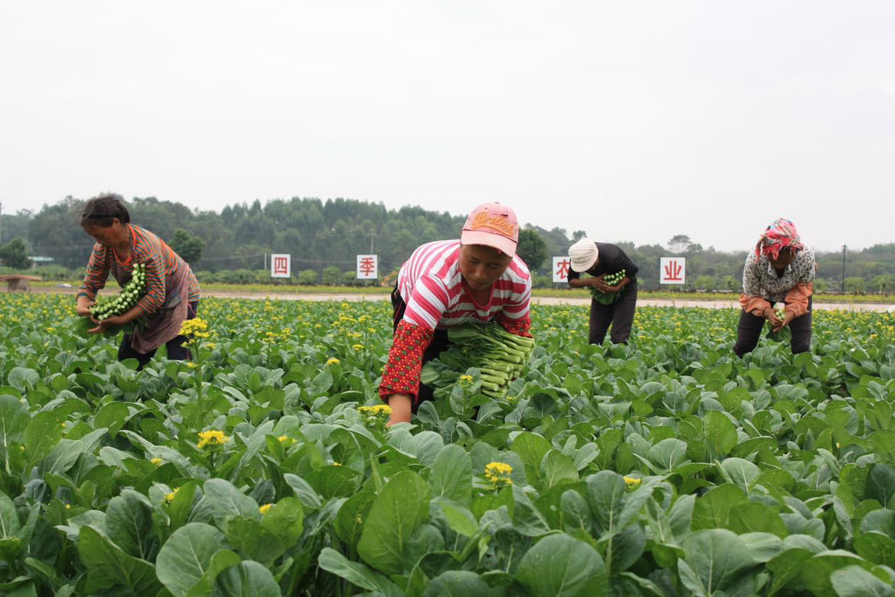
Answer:
<svg viewBox="0 0 895 597"><path fill-rule="evenodd" d="M125 334L118 348L118 360L136 359L140 368L152 359L160 345L166 345L169 359L189 358L180 336L184 320L196 315L200 287L192 269L163 240L149 230L133 226L131 216L117 195L87 201L81 211L81 227L97 243L87 264L87 274L78 294L77 312L97 324L98 334L107 328L141 320L132 334ZM147 292L131 310L98 321L90 315L100 288L111 273L119 286L131 279L133 264L146 265Z"/></svg>

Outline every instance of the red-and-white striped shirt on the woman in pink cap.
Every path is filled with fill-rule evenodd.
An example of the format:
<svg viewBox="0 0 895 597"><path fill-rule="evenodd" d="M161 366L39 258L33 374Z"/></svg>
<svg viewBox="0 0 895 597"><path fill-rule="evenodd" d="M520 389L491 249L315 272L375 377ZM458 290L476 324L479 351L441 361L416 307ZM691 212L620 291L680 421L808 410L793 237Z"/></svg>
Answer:
<svg viewBox="0 0 895 597"><path fill-rule="evenodd" d="M532 276L513 256L507 270L491 286L490 301L478 304L460 275L460 241L436 241L416 249L401 266L398 291L407 304L404 320L422 328L450 328L468 321L507 321L529 316Z"/></svg>

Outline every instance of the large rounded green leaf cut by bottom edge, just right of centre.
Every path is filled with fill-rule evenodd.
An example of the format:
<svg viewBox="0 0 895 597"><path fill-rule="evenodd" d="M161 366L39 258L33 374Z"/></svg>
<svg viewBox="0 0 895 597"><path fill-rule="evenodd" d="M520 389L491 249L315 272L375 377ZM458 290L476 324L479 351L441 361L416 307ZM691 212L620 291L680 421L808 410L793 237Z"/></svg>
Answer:
<svg viewBox="0 0 895 597"><path fill-rule="evenodd" d="M547 535L525 552L516 580L534 597L600 597L608 591L597 550L562 533Z"/></svg>

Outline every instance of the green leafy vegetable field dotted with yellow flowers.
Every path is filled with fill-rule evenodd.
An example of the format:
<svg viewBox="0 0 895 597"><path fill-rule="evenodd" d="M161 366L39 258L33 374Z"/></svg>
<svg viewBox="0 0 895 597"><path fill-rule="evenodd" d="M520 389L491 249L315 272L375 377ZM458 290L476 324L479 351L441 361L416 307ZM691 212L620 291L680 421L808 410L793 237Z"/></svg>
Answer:
<svg viewBox="0 0 895 597"><path fill-rule="evenodd" d="M586 344L533 311L387 429L387 303L206 299L193 362L116 361L71 296L0 294L0 594L893 595L895 318L731 353L734 310Z"/></svg>

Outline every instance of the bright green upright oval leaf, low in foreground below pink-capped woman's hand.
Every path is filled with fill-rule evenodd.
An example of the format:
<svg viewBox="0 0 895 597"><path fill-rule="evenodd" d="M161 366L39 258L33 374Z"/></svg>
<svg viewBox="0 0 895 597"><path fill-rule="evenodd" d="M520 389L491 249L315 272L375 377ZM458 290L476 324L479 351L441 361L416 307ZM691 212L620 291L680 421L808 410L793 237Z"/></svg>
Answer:
<svg viewBox="0 0 895 597"><path fill-rule="evenodd" d="M413 530L429 518L431 490L420 475L396 473L382 489L363 525L357 552L386 574L401 574L401 555Z"/></svg>

